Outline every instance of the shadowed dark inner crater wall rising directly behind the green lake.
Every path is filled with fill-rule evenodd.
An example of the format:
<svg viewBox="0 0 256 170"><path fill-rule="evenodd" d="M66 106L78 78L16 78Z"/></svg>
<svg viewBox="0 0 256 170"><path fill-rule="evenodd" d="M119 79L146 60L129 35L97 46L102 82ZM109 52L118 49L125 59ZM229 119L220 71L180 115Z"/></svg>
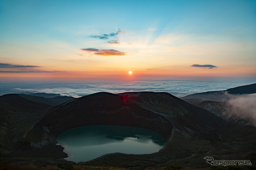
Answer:
<svg viewBox="0 0 256 170"><path fill-rule="evenodd" d="M132 102L122 101L122 97L101 92L74 99L66 104L53 108L32 130L48 127L55 137L66 129L93 125L109 124L122 126L136 126L156 129L166 140L171 135L172 126L163 117L145 110ZM160 125L164 124L165 128ZM30 140L31 141L31 140ZM35 146L42 144L35 144Z"/></svg>

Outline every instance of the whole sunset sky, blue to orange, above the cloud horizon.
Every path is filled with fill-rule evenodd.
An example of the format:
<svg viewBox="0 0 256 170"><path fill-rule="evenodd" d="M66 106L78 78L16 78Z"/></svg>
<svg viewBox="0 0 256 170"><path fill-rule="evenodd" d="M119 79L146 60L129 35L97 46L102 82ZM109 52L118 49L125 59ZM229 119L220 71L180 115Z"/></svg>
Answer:
<svg viewBox="0 0 256 170"><path fill-rule="evenodd" d="M255 47L255 0L0 1L1 82L256 80Z"/></svg>

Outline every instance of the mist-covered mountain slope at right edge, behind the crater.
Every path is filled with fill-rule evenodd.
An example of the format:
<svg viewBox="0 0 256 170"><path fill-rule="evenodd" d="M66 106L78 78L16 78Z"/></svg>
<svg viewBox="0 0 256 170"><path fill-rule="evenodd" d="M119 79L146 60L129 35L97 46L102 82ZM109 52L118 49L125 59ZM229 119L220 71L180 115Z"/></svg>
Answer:
<svg viewBox="0 0 256 170"><path fill-rule="evenodd" d="M255 94L256 84L250 84L223 91L191 94L181 99L200 108L204 108L225 120L255 126L256 122L253 113L248 113L248 110L253 110L254 108L253 101L255 101L255 97L253 98L253 95L255 96ZM243 104L240 104L240 102L245 99L246 102L244 104L247 104L242 106Z"/></svg>

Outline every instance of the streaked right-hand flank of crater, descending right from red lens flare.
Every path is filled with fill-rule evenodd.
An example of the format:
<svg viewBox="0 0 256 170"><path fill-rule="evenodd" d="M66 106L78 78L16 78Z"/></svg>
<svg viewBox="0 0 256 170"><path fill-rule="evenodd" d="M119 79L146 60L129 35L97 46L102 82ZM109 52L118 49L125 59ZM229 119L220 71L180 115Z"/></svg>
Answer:
<svg viewBox="0 0 256 170"><path fill-rule="evenodd" d="M208 127L217 128L219 124L220 126L223 126L220 118L169 93L137 92L123 93L119 95L129 96L130 101L142 108L163 115L172 122L172 124L177 124L177 121L182 119L182 122L177 124L180 128L182 128L182 126L185 127L190 125L190 128L194 128L194 130L200 132L198 126L204 130L208 129ZM194 126L194 124L197 125Z"/></svg>

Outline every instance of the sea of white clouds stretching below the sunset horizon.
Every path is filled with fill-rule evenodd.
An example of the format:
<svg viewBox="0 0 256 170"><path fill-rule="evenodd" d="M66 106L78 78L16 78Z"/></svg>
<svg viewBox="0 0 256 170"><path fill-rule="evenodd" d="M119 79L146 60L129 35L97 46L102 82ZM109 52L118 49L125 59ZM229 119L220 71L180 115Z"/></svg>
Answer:
<svg viewBox="0 0 256 170"><path fill-rule="evenodd" d="M255 80L141 80L88 82L0 82L0 96L10 93L54 93L81 97L96 92L168 92L176 97L226 90L255 83Z"/></svg>

